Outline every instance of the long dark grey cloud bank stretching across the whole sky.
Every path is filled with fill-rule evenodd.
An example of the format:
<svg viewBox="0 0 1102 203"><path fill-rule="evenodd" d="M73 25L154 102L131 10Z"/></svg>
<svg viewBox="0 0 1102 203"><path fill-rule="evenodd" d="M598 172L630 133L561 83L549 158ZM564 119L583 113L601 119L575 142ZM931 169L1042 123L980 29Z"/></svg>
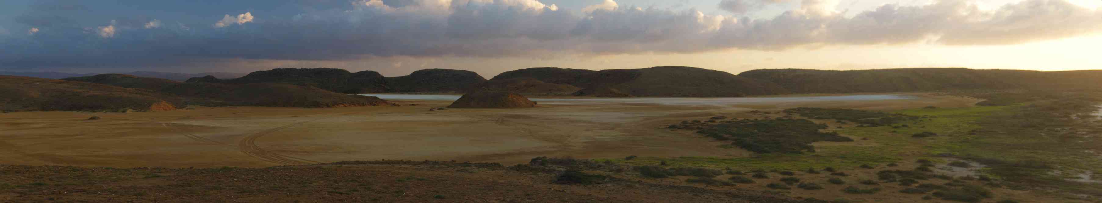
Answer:
<svg viewBox="0 0 1102 203"><path fill-rule="evenodd" d="M753 0L720 3L733 12ZM692 53L785 50L809 44L1014 44L1093 34L1102 14L1063 0L980 10L964 0L885 4L845 17L831 1L803 0L771 19L606 1L583 12L537 0L235 1L234 7L82 18L104 4L41 1L7 28L0 67L156 66L234 58L342 61L368 56L536 56L552 53ZM199 4L206 1L201 1ZM258 6L250 6L248 2ZM266 2L268 4L266 4ZM773 0L754 3L774 2ZM98 3L98 2L97 2ZM133 8L152 6L128 4ZM170 3L171 4L171 3ZM260 6L264 4L264 6ZM279 3L277 3L279 4ZM119 6L121 7L121 6ZM731 8L726 8L731 7ZM190 18L181 18L188 15ZM24 34L26 33L26 34Z"/></svg>

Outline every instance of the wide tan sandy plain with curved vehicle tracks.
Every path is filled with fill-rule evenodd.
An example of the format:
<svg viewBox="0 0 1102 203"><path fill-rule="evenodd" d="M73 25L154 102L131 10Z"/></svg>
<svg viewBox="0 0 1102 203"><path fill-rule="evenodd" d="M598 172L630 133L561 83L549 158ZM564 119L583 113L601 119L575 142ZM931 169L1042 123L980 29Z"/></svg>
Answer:
<svg viewBox="0 0 1102 203"><path fill-rule="evenodd" d="M0 114L0 163L210 168L388 159L511 165L540 156L745 157L750 153L717 148L721 142L665 127L687 119L738 116L748 110L964 107L977 101L939 94L904 95L909 98L710 105L557 101L523 109L436 111L429 109L445 107L451 101L391 100L403 106L347 108L9 113ZM91 116L101 119L86 120Z"/></svg>

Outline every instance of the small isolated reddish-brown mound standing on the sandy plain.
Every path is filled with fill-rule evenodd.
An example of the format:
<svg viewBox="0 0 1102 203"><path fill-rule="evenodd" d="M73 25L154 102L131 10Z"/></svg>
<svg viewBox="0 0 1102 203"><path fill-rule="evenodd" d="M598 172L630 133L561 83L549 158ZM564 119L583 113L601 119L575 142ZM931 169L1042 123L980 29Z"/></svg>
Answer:
<svg viewBox="0 0 1102 203"><path fill-rule="evenodd" d="M478 92L467 93L456 99L449 108L521 108L536 107L536 101L516 93Z"/></svg>

